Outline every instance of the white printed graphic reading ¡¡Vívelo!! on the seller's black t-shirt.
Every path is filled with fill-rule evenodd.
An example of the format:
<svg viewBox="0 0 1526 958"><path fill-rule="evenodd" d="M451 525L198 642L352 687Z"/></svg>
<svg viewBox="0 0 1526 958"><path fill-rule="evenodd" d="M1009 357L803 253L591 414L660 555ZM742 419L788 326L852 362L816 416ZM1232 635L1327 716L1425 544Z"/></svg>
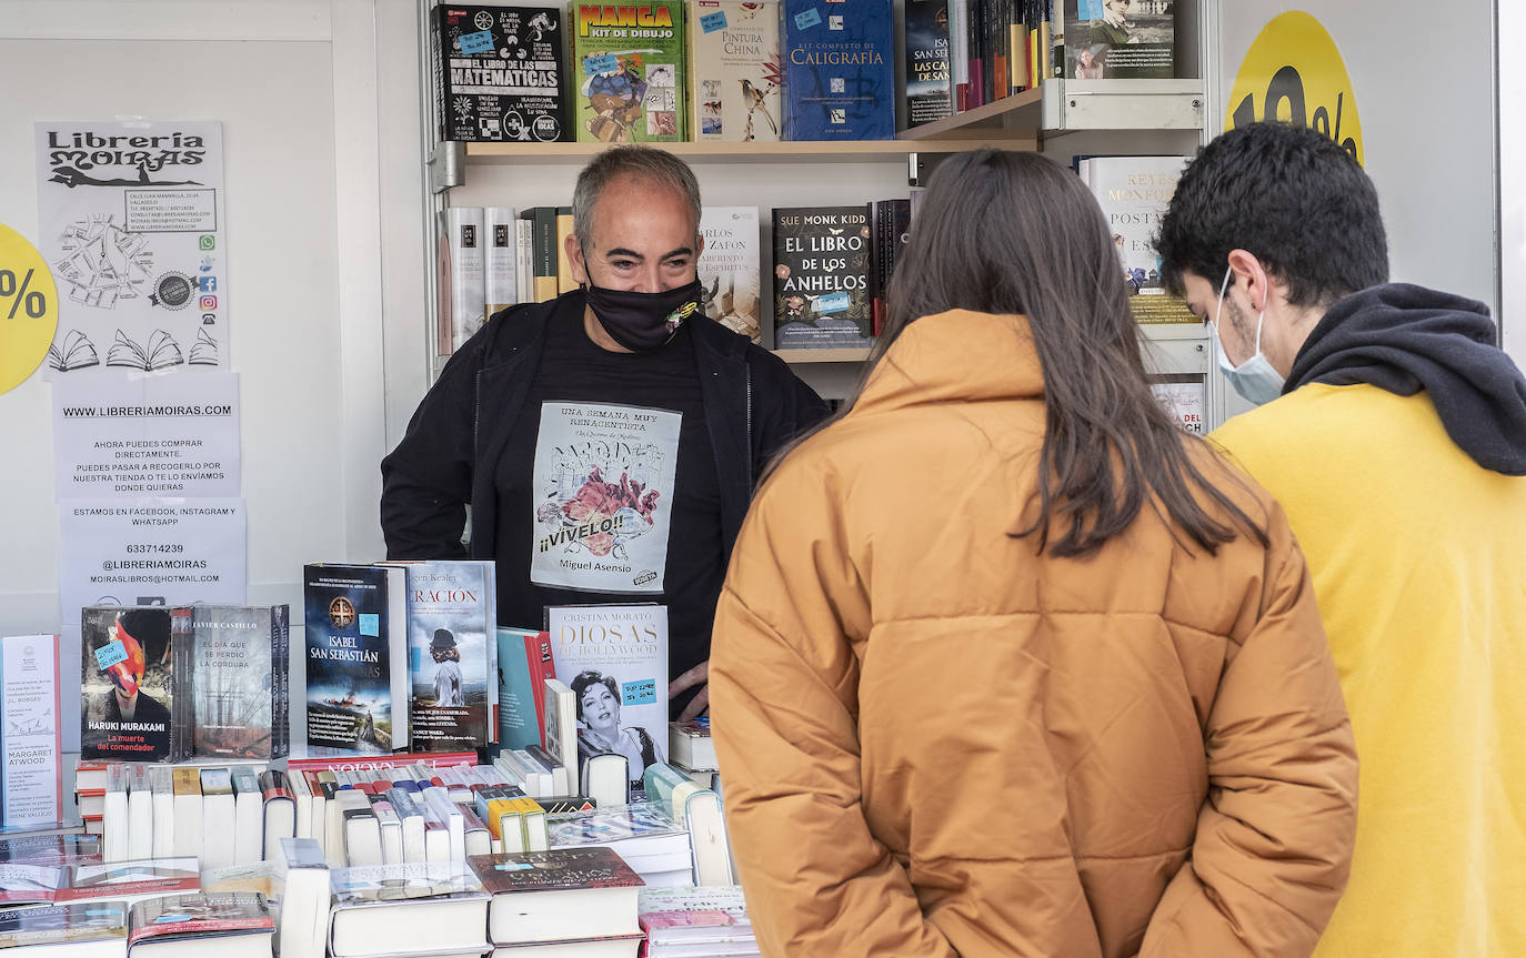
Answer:
<svg viewBox="0 0 1526 958"><path fill-rule="evenodd" d="M530 581L662 592L682 421L662 409L542 404Z"/></svg>

